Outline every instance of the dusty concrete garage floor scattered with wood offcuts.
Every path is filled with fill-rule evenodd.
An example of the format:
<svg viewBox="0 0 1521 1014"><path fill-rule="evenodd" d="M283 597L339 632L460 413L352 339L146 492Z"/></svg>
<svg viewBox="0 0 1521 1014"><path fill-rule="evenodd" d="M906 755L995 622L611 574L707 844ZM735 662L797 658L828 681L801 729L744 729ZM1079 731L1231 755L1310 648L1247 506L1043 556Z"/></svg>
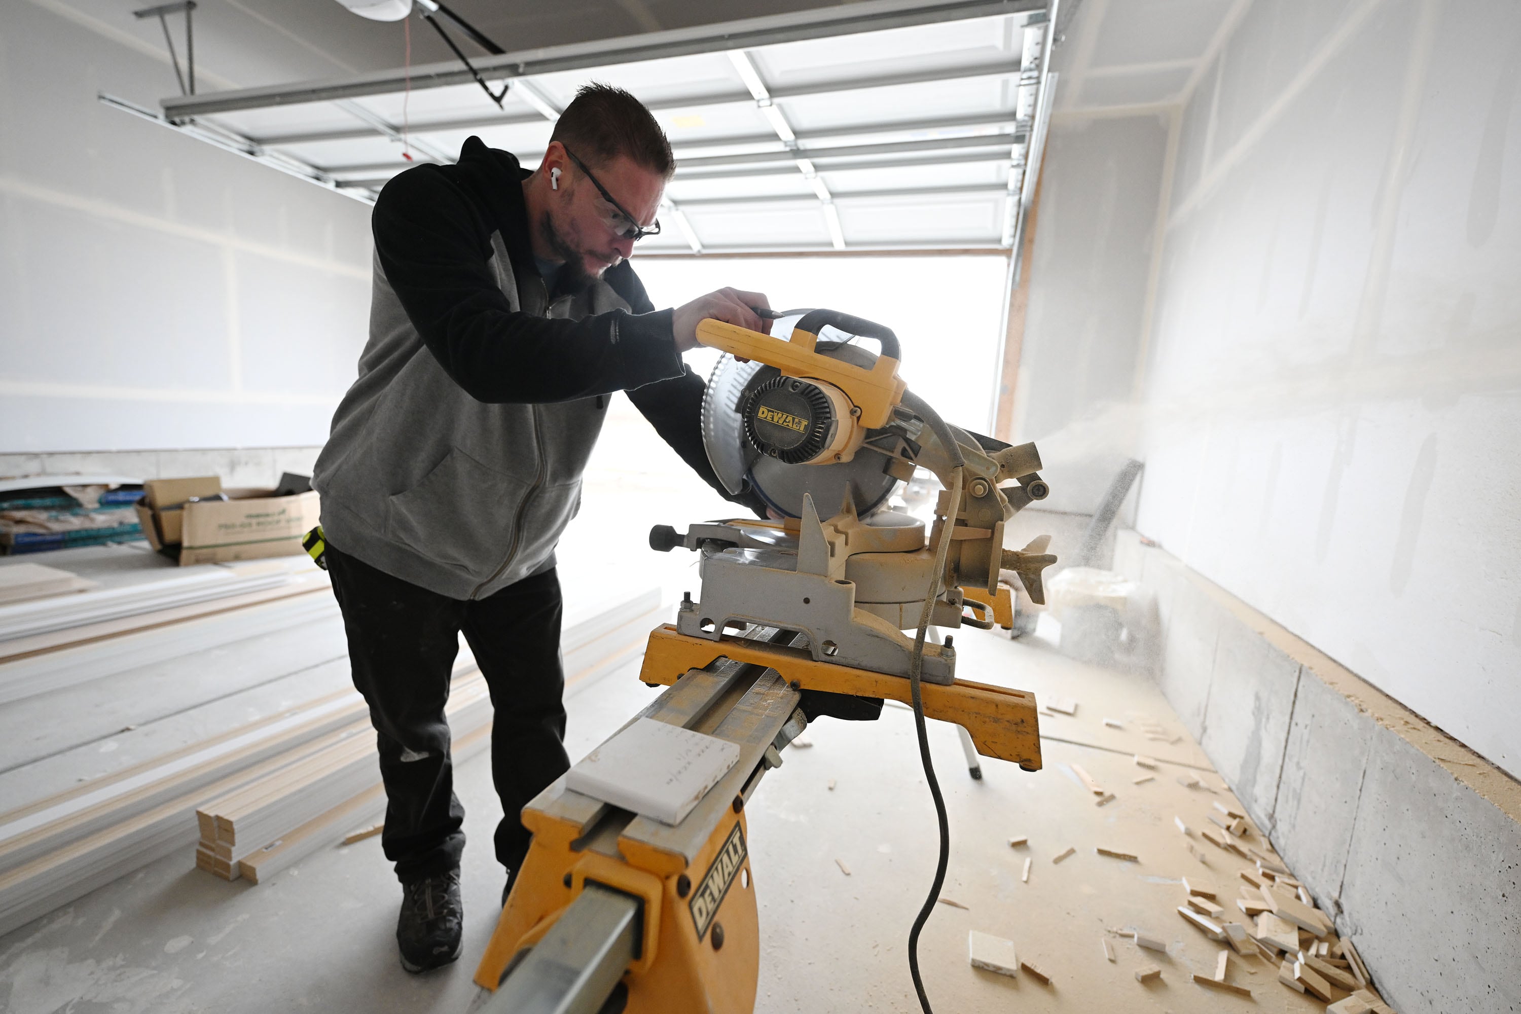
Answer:
<svg viewBox="0 0 1521 1014"><path fill-rule="evenodd" d="M1173 911L1179 877L1205 871L1234 898L1227 853L1209 851L1206 871L1173 825L1180 815L1203 825L1215 798L1186 789L1179 772L1203 774L1218 791L1197 745L1161 693L1142 677L1066 660L1039 637L1011 643L963 631L961 675L1077 698L1075 718L1042 716L1045 769L1027 774L986 760L972 781L948 725L931 724L937 771L951 810L952 862L943 895L966 909L937 906L920 955L929 996L940 1011L1221 1011L1250 1000L1188 982L1211 973L1218 947ZM613 731L654 690L627 667L581 687L570 699L569 748L580 757ZM1112 730L1103 718L1127 725ZM1135 721L1176 728L1174 745L1145 740ZM824 719L786 751L750 806L750 848L760 902L764 953L757 1011L917 1011L905 962L905 938L934 870L935 822L914 746L913 716L888 707L873 724ZM1167 763L1154 781L1132 753ZM1083 765L1118 800L1103 809L1068 765ZM835 780L830 791L829 781ZM476 999L475 959L490 936L502 873L490 851L497 804L485 756L461 766L467 807L465 952L453 967L423 978L402 971L392 941L399 889L377 839L325 850L262 886L225 883L170 856L0 938L0 1011L218 1009L227 1014L362 1009L462 1012ZM1027 850L1007 839L1028 835ZM1196 839L1197 841L1197 839ZM1051 857L1078 851L1062 865ZM1094 854L1094 845L1135 851L1139 863ZM1033 857L1028 883L1021 882ZM850 868L847 877L835 859ZM1229 905L1229 900L1226 902ZM1240 918L1240 915L1238 915ZM1165 956L1112 938L1106 929L1142 929L1170 941ZM980 929L1016 943L1051 978L1051 987L972 970L966 932ZM1157 961L1161 959L1161 961ZM1133 970L1162 965L1159 985L1141 987ZM1256 988L1256 1006L1319 1009L1275 982L1262 961L1237 961L1234 982Z"/></svg>

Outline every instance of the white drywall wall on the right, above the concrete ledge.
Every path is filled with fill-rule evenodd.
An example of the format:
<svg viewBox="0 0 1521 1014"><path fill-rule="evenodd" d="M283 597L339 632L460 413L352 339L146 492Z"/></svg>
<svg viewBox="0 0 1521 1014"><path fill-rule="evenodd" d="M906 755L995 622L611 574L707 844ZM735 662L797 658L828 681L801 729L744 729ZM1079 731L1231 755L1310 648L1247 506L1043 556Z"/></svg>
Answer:
<svg viewBox="0 0 1521 1014"><path fill-rule="evenodd" d="M1521 6L1258 0L1179 129L1138 528L1521 775Z"/></svg>

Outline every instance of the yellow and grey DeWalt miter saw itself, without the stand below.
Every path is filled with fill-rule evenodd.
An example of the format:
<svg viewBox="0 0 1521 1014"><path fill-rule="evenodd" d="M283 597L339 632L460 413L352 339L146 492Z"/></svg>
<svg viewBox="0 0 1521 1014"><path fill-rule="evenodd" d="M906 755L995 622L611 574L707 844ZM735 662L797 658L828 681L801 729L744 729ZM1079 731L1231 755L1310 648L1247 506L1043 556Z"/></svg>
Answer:
<svg viewBox="0 0 1521 1014"><path fill-rule="evenodd" d="M1056 562L1048 540L1004 549L1008 518L1048 493L1034 444L1011 447L941 421L897 377L888 328L832 310L791 319L789 341L698 325L704 345L727 353L703 401L709 461L730 493L748 486L783 520L651 532L656 549L703 555L701 599L681 604L677 629L718 640L724 629L782 626L806 634L815 661L908 677L914 645L902 631L919 626L926 591L929 623L941 628L992 626L993 604L1008 602L1002 572L1043 602L1040 572ZM820 341L824 327L873 337L881 353ZM928 537L923 521L885 506L916 467L946 486ZM922 675L949 684L955 649L926 645Z"/></svg>

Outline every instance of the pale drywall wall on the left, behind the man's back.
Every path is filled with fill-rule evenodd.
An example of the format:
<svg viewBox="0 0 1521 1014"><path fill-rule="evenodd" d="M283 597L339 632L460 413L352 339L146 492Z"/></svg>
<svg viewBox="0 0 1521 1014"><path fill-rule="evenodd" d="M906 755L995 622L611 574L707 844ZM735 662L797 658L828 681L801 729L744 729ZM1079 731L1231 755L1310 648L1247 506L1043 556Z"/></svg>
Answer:
<svg viewBox="0 0 1521 1014"><path fill-rule="evenodd" d="M100 105L176 90L128 29L129 5L0 5L0 452L321 444L370 210Z"/></svg>

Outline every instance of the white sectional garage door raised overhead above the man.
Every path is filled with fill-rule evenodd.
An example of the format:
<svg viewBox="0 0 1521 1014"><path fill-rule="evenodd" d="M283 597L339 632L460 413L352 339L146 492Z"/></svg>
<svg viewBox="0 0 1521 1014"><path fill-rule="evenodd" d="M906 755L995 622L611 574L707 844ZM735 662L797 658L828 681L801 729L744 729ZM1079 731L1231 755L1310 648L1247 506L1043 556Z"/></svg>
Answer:
<svg viewBox="0 0 1521 1014"><path fill-rule="evenodd" d="M458 61L202 91L161 111L103 100L373 201L472 134L537 164L575 90L604 81L639 96L677 154L665 231L640 254L996 249L1016 242L1043 138L1046 6L870 0L472 55L508 84L500 108Z"/></svg>

